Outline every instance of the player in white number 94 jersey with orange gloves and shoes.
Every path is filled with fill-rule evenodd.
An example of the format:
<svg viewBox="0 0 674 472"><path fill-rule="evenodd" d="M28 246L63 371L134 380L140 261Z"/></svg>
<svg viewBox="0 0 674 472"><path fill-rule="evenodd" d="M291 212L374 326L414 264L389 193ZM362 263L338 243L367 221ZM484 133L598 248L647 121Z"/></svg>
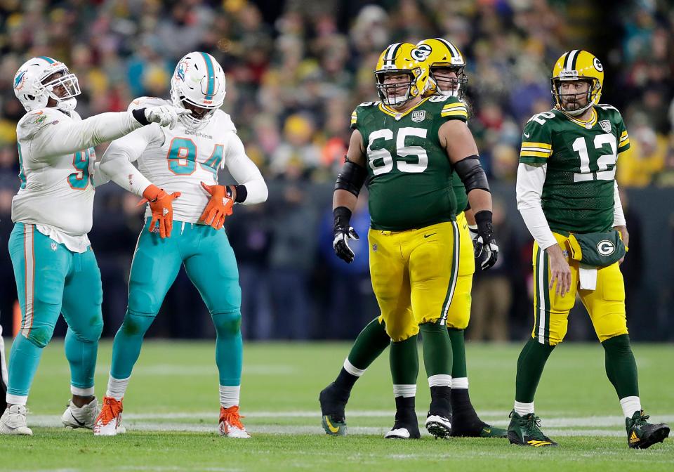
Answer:
<svg viewBox="0 0 674 472"><path fill-rule="evenodd" d="M246 156L230 115L220 110L224 100L225 74L220 64L210 54L189 53L171 77L171 101L143 97L133 100L129 109L173 103L192 114L181 116L169 132L148 126L115 140L103 155L101 169L121 187L144 197L148 206L147 231L141 232L133 254L128 308L114 336L110 379L95 435L120 431L122 398L143 336L184 265L216 327L220 434L250 437L239 416L241 289L223 223L234 203L264 202L267 185ZM134 161L138 169L131 164ZM219 185L221 167L237 183ZM172 203L178 195L180 199Z"/></svg>

